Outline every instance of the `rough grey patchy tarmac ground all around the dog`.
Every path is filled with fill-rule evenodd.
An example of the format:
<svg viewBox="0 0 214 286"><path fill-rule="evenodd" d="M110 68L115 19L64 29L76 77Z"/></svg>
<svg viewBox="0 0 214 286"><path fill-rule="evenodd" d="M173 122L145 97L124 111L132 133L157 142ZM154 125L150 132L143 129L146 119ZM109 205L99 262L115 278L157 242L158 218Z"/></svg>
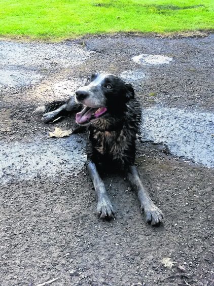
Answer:
<svg viewBox="0 0 214 286"><path fill-rule="evenodd" d="M213 40L0 42L1 285L214 285ZM116 217L98 219L87 134L48 139L74 118L31 116L94 70L131 82L141 103L136 164L164 212L159 228L145 223L122 173L103 175Z"/></svg>

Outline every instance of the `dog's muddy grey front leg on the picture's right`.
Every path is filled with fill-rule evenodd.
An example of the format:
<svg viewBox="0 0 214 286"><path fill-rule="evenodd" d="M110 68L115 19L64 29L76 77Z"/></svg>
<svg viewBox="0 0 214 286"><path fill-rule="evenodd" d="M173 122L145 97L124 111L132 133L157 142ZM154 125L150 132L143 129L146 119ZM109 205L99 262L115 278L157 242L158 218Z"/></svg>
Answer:
<svg viewBox="0 0 214 286"><path fill-rule="evenodd" d="M141 210L144 209L145 212L146 221L149 224L158 226L163 221L163 213L151 200L147 189L140 180L136 166L128 166L127 178L131 187L137 192Z"/></svg>

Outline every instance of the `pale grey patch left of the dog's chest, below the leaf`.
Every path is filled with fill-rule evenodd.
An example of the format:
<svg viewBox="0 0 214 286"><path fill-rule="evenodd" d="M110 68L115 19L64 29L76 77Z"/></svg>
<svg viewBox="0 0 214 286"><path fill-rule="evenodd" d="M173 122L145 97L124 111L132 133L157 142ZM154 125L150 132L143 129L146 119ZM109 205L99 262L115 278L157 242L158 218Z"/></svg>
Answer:
<svg viewBox="0 0 214 286"><path fill-rule="evenodd" d="M30 143L2 141L1 182L74 175L84 167L86 161L84 147L85 140L82 135Z"/></svg>

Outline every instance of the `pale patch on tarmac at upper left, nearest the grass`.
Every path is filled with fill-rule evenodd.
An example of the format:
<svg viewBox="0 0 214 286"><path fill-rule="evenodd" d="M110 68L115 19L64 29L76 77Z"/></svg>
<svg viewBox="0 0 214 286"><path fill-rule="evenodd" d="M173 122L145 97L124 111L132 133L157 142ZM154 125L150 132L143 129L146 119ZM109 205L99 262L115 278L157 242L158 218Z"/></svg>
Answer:
<svg viewBox="0 0 214 286"><path fill-rule="evenodd" d="M75 44L0 42L0 64L54 68L75 66L93 52Z"/></svg>

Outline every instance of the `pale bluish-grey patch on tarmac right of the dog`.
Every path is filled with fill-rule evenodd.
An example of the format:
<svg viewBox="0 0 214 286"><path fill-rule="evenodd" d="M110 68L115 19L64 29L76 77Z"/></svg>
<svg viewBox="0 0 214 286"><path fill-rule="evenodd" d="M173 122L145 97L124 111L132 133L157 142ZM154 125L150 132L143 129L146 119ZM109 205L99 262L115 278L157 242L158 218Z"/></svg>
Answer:
<svg viewBox="0 0 214 286"><path fill-rule="evenodd" d="M214 114L154 106L142 110L141 133L173 155L214 167Z"/></svg>

